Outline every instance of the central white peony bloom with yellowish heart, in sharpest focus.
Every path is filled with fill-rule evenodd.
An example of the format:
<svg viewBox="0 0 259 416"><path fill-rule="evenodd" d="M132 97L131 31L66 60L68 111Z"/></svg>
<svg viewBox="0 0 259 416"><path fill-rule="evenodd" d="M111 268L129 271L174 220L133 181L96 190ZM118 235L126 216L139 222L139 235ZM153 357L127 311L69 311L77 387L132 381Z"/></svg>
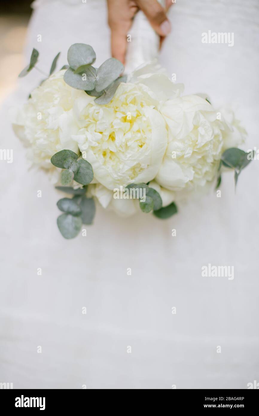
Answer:
<svg viewBox="0 0 259 416"><path fill-rule="evenodd" d="M121 83L106 106L82 101L75 102L81 129L73 139L97 181L113 190L152 180L165 154L167 131L150 89Z"/></svg>

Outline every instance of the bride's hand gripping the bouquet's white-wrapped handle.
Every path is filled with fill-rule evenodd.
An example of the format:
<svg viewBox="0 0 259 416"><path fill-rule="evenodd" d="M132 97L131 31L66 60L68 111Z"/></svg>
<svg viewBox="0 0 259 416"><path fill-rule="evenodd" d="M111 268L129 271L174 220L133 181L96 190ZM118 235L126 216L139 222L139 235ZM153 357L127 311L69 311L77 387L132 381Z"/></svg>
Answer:
<svg viewBox="0 0 259 416"><path fill-rule="evenodd" d="M171 25L165 12L172 5L172 0L166 0L166 10L157 0L107 0L108 21L111 28L111 53L124 64L127 35L136 12L142 10L153 29L161 37L171 30Z"/></svg>

